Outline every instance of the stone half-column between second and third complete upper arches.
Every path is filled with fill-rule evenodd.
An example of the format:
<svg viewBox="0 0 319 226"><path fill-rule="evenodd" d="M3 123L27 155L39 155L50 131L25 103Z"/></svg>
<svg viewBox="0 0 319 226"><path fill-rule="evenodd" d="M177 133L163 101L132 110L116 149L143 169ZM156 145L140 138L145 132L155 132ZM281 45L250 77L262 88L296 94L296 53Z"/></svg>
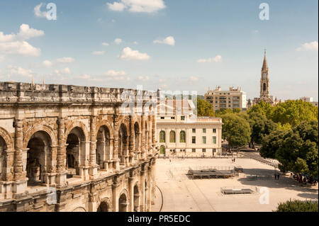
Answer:
<svg viewBox="0 0 319 226"><path fill-rule="evenodd" d="M90 135L89 175L90 179L96 179L99 168L99 166L96 165L96 116L91 116Z"/></svg>

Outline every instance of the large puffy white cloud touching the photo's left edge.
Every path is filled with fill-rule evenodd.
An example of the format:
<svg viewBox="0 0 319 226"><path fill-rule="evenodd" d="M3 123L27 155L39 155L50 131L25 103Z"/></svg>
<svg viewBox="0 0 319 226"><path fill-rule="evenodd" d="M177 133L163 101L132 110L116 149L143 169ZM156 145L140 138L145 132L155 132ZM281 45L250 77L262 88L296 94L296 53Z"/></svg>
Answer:
<svg viewBox="0 0 319 226"><path fill-rule="evenodd" d="M28 24L22 24L17 34L4 35L3 32L0 32L0 52L4 55L39 56L41 50L33 47L26 40L43 35L43 30L30 28Z"/></svg>

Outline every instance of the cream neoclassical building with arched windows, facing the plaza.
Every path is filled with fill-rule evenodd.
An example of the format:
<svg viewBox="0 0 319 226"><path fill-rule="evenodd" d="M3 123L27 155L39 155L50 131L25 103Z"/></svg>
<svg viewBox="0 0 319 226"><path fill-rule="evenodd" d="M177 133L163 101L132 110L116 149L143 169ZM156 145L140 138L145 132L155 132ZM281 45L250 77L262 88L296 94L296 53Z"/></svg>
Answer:
<svg viewBox="0 0 319 226"><path fill-rule="evenodd" d="M222 119L195 117L192 101L170 101L157 113L157 145L160 154L213 155L221 153ZM181 111L182 106L184 111ZM185 108L186 107L186 108ZM173 112L173 114L169 114Z"/></svg>

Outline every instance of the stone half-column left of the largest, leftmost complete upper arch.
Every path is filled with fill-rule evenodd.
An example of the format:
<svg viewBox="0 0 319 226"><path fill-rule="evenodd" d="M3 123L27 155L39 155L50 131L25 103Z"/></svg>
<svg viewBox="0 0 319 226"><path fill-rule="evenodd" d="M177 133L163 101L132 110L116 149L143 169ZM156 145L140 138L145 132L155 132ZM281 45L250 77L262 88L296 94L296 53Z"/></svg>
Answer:
<svg viewBox="0 0 319 226"><path fill-rule="evenodd" d="M14 183L13 183L13 198L20 198L26 195L26 186L28 179L26 178L26 171L23 171L23 120L16 120L16 139L15 139L15 153L13 160L14 167Z"/></svg>

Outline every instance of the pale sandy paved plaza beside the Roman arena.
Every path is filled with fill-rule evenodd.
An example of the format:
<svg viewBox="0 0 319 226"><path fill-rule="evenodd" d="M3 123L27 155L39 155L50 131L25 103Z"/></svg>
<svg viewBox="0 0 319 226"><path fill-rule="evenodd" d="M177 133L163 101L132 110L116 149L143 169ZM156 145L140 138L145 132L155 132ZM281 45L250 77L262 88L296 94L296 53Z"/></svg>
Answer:
<svg viewBox="0 0 319 226"><path fill-rule="evenodd" d="M318 185L301 186L290 176L281 174L274 179L274 167L253 159L157 159L156 203L154 211L272 211L278 203L289 199L318 200ZM202 169L210 166L242 166L243 173L230 179L189 179L189 167ZM257 180L247 176L257 175ZM251 188L252 194L223 195L220 188ZM269 203L265 189L269 190ZM266 189L267 190L267 189ZM162 191L162 195L161 192ZM262 198L261 198L262 196ZM163 198L162 198L163 197ZM162 202L163 200L163 202Z"/></svg>

